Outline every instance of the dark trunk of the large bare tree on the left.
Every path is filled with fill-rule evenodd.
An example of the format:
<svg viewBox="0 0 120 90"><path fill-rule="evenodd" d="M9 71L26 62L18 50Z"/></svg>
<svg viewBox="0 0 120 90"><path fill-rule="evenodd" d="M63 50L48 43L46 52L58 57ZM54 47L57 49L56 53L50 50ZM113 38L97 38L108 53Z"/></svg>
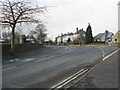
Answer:
<svg viewBox="0 0 120 90"><path fill-rule="evenodd" d="M11 34L11 55L14 55L15 50L15 25L12 27L12 34Z"/></svg>

